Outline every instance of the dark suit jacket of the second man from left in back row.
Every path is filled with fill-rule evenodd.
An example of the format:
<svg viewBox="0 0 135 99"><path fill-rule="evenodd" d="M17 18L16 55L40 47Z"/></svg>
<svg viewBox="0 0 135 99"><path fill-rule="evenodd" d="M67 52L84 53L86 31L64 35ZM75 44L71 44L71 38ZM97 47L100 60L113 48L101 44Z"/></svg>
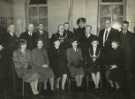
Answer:
<svg viewBox="0 0 135 99"><path fill-rule="evenodd" d="M32 50L36 47L36 43L38 40L38 34L36 32L34 32L31 36L28 34L28 32L24 32L20 35L20 39L25 39L27 41L27 48L29 50Z"/></svg>

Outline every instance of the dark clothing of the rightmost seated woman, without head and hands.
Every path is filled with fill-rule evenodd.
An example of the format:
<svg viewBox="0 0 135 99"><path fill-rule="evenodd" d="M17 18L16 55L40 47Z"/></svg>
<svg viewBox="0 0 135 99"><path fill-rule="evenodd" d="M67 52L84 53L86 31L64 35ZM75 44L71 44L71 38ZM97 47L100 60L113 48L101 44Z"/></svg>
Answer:
<svg viewBox="0 0 135 99"><path fill-rule="evenodd" d="M111 65L116 65L117 68L110 70L109 79L112 81L116 81L120 86L124 81L124 68L123 68L123 60L122 60L122 52L120 47L116 50L111 49L110 52L107 54L106 57L106 64L108 69L111 68Z"/></svg>

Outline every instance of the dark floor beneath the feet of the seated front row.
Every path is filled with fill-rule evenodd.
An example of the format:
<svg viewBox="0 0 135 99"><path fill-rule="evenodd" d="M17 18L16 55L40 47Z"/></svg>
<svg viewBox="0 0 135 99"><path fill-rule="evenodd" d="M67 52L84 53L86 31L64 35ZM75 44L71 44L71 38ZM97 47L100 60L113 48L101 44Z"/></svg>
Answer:
<svg viewBox="0 0 135 99"><path fill-rule="evenodd" d="M66 89L66 91L55 90L51 91L41 91L39 96L33 96L31 88L28 84L25 84L25 96L22 97L22 88L18 88L15 96L11 93L5 96L1 95L0 99L135 99L135 91L132 91L130 97L122 91L112 90L110 88L85 88L76 89L72 86L72 89ZM129 91L127 91L129 92Z"/></svg>

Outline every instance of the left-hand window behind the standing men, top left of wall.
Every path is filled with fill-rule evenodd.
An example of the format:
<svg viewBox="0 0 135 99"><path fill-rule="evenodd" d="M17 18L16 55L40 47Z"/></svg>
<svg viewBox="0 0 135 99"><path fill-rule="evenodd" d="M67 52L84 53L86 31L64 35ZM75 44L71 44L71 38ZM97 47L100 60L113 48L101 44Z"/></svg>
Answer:
<svg viewBox="0 0 135 99"><path fill-rule="evenodd" d="M30 0L27 3L27 24L33 23L35 26L44 24L48 29L48 5L47 0Z"/></svg>

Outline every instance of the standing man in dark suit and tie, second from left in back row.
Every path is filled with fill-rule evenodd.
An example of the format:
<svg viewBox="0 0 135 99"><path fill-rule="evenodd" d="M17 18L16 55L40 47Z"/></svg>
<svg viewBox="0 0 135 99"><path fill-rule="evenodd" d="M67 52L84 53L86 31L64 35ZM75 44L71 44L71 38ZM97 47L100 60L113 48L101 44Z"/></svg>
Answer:
<svg viewBox="0 0 135 99"><path fill-rule="evenodd" d="M20 39L25 39L27 41L27 48L29 50L32 50L36 47L38 34L34 32L33 24L28 25L28 30L20 35Z"/></svg>

